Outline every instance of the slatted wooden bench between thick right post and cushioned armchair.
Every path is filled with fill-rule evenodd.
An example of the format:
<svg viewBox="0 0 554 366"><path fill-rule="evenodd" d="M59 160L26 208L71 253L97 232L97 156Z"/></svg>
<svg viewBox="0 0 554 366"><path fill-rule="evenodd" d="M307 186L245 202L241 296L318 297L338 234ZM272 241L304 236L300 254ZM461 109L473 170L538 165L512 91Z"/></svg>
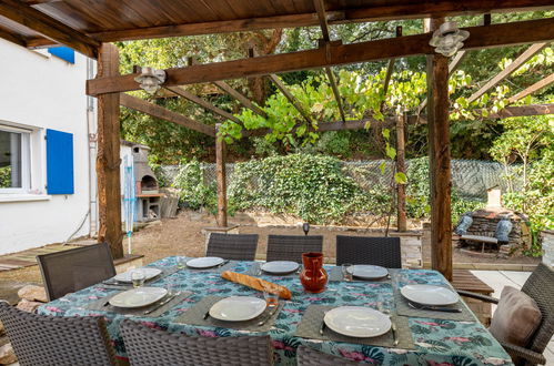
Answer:
<svg viewBox="0 0 554 366"><path fill-rule="evenodd" d="M471 291L487 296L491 296L494 293L494 289L491 286L475 277L467 270L454 270L452 272L452 285L455 289ZM484 303L482 301L470 297L463 297L463 299L467 304L467 306L470 306L472 312L475 313L479 321L483 325L491 325L492 313L490 303Z"/></svg>

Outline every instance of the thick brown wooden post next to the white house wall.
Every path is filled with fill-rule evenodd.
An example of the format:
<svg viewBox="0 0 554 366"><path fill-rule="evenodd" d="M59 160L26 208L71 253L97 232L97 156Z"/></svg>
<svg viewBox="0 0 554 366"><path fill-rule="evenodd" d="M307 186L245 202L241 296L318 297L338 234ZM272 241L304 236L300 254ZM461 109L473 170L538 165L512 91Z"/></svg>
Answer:
<svg viewBox="0 0 554 366"><path fill-rule="evenodd" d="M110 43L99 49L98 78L119 75L119 51ZM98 95L98 241L108 242L114 260L123 257L120 183L119 93Z"/></svg>

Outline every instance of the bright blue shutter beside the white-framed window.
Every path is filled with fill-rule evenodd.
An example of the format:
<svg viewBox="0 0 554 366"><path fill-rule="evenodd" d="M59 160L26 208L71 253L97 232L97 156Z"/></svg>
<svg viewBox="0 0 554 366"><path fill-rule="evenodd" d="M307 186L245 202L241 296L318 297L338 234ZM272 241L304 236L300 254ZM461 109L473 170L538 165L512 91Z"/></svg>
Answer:
<svg viewBox="0 0 554 366"><path fill-rule="evenodd" d="M73 134L47 130L47 192L73 194Z"/></svg>

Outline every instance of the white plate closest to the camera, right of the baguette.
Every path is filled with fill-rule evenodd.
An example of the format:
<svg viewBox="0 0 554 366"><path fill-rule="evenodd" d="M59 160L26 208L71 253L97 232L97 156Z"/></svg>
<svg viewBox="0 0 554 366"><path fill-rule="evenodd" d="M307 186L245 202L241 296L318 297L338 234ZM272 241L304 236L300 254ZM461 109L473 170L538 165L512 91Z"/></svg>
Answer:
<svg viewBox="0 0 554 366"><path fill-rule="evenodd" d="M335 307L325 314L323 322L331 331L356 338L376 337L391 329L389 316L362 306Z"/></svg>

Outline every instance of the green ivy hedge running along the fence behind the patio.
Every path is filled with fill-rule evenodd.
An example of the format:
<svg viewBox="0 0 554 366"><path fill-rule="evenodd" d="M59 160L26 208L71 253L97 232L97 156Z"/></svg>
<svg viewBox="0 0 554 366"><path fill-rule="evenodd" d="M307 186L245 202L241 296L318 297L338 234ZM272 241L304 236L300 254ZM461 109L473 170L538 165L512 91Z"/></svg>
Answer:
<svg viewBox="0 0 554 366"><path fill-rule="evenodd" d="M332 224L355 213L384 216L391 207L391 191L386 185L362 187L340 160L326 155L290 154L236 163L230 182L231 214L236 210L261 210L293 214L315 224ZM173 184L181 189L181 201L187 206L216 212L215 183L204 182L198 161L182 165ZM406 194L409 217L429 216L429 192L427 159L411 160ZM453 222L483 205L453 192Z"/></svg>

